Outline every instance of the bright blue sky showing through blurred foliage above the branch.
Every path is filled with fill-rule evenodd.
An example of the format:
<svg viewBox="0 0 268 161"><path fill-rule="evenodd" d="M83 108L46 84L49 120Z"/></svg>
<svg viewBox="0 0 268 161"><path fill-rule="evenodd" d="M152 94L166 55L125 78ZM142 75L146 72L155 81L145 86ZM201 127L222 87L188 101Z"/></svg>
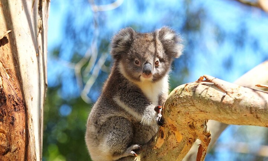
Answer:
<svg viewBox="0 0 268 161"><path fill-rule="evenodd" d="M148 6L159 5L161 1L148 1ZM49 17L49 32L48 32L48 50L49 52L57 45L64 40L64 21L69 10L72 10L75 3L67 3L63 0L52 0L51 1L51 10ZM170 9L171 6L176 6L177 8L182 7L180 1L169 1L169 3L164 3L161 6L162 9ZM229 71L232 74L226 74L224 76L226 81L234 81L240 77L246 71L252 69L254 66L258 65L263 61L263 54L266 53L254 53L251 46L246 46L244 50L236 51L232 46L232 42L224 42L221 46L218 46L215 41L214 32L215 25L221 26L226 32L236 32L241 22L246 26L249 34L258 37L260 40L260 45L266 51L268 51L268 18L267 14L263 14L258 9L252 9L252 12L245 10L245 6L240 6L239 4L233 4L232 1L226 0L208 0L208 1L194 1L193 5L196 6L205 6L208 18L202 30L202 44L201 49L196 49L200 54L197 54L195 57L194 64L192 64L192 70L189 76L189 81L196 80L200 75L209 74L212 76L219 76L220 66L226 57L230 55L234 56L235 62L233 69ZM118 31L120 28L127 26L127 24L133 22L138 26L146 26L142 28L143 32L153 30L155 28L160 28L163 24L157 24L161 20L165 13L163 12L154 12L153 7L148 7L142 12L138 12L137 5L135 1L124 1L120 11L111 10L105 11L102 14L106 16L106 26L109 28L109 31ZM85 18L92 16L91 8L85 7L83 11L77 13L77 18L75 22L79 25L82 24ZM121 14L122 13L122 14ZM126 14L124 14L126 13ZM118 18L117 18L118 17ZM240 18L240 21L237 21ZM166 22L170 24L170 22ZM89 26L90 28L90 26ZM102 32L102 31L101 31ZM181 33L184 36L184 33ZM205 35L205 36L204 36ZM112 36L112 35L111 35ZM110 39L111 37L108 37ZM199 37L197 37L198 39ZM187 41L187 40L186 40ZM250 40L245 40L250 41ZM205 52L203 53L202 49ZM48 54L50 55L50 54ZM66 54L65 57L70 55ZM70 58L66 58L67 60ZM49 60L50 61L50 60ZM55 64L53 65L55 68ZM215 68L211 68L211 66ZM217 68L218 67L218 68ZM55 70L55 69L52 69ZM50 79L50 77L48 77Z"/></svg>

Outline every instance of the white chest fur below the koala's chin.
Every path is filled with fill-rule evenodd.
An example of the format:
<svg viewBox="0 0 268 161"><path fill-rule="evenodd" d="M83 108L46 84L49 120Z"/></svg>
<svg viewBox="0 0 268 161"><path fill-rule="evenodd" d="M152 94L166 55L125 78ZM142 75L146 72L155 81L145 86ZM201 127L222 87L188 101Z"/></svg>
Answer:
<svg viewBox="0 0 268 161"><path fill-rule="evenodd" d="M168 92L169 89L168 76L163 77L155 83L152 83L151 81L143 81L142 83L139 83L138 86L150 101L155 105L159 105L158 96L162 92Z"/></svg>

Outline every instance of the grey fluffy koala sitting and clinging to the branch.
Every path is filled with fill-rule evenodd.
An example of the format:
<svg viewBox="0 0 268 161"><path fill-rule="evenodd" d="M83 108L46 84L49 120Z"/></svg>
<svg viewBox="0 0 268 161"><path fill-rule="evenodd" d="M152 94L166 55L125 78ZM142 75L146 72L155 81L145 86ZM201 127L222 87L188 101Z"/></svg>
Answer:
<svg viewBox="0 0 268 161"><path fill-rule="evenodd" d="M159 129L160 107L169 91L169 71L182 53L181 37L169 27L152 33L132 28L112 39L111 73L87 120L91 159L113 161L136 150ZM155 109L156 108L156 109Z"/></svg>

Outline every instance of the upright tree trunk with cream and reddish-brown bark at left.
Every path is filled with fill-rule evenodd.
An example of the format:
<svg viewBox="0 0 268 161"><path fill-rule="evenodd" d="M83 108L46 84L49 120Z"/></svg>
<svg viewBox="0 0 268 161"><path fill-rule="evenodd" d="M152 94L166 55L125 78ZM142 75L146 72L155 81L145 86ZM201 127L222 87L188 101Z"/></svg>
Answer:
<svg viewBox="0 0 268 161"><path fill-rule="evenodd" d="M42 160L49 1L0 0L0 160Z"/></svg>

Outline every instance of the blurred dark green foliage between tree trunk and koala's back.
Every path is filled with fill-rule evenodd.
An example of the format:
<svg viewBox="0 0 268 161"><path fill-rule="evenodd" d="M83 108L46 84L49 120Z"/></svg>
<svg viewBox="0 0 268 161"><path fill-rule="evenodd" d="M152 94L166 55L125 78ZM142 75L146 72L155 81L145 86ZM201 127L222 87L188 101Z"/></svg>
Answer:
<svg viewBox="0 0 268 161"><path fill-rule="evenodd" d="M59 95L59 89L60 86L49 88L47 92L44 108L43 160L90 160L84 133L91 105L86 104L81 98L63 100ZM71 108L67 113L66 109L61 109L66 104Z"/></svg>

